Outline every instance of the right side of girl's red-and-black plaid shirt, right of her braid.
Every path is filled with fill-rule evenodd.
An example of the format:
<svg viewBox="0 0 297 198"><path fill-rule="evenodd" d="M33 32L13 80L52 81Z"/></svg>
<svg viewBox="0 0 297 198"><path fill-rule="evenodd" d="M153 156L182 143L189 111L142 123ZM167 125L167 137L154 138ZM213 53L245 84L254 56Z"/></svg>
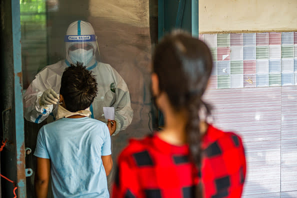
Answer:
<svg viewBox="0 0 297 198"><path fill-rule="evenodd" d="M210 142L203 152L204 197L241 197L246 174L241 138L225 132L221 138Z"/></svg>

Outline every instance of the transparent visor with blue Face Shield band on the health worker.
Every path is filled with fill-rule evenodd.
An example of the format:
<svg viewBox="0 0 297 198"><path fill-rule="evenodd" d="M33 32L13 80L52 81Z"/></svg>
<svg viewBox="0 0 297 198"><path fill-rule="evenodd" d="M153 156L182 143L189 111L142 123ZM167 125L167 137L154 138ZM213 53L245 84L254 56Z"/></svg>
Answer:
<svg viewBox="0 0 297 198"><path fill-rule="evenodd" d="M66 59L70 63L80 62L84 66L90 66L95 62L95 52L98 44L94 34L66 35L64 41L66 44Z"/></svg>

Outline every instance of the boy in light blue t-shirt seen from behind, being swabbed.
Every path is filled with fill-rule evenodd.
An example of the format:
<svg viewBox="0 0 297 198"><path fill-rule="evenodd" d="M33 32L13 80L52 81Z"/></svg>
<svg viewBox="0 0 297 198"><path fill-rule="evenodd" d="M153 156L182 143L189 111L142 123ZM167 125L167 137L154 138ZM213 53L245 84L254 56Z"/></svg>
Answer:
<svg viewBox="0 0 297 198"><path fill-rule="evenodd" d="M87 116L84 109L96 93L96 80L82 64L65 69L57 114L68 115L39 130L34 152L36 197L46 197L49 174L54 197L109 197L106 175L112 159L108 129L116 125L108 120L107 127Z"/></svg>

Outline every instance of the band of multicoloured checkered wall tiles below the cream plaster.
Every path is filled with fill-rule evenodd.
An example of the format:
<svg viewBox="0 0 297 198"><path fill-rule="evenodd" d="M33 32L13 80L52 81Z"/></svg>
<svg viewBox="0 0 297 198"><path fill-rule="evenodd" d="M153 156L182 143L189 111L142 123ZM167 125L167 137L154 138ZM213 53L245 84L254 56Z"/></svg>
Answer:
<svg viewBox="0 0 297 198"><path fill-rule="evenodd" d="M210 48L217 88L297 84L297 32L199 34L199 39Z"/></svg>

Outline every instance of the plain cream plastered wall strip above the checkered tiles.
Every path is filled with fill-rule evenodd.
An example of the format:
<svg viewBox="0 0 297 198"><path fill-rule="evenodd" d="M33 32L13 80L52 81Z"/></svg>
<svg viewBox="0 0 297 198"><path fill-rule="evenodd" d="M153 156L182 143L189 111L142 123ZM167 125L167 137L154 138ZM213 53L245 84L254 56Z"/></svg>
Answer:
<svg viewBox="0 0 297 198"><path fill-rule="evenodd" d="M199 0L199 33L297 30L297 0Z"/></svg>

